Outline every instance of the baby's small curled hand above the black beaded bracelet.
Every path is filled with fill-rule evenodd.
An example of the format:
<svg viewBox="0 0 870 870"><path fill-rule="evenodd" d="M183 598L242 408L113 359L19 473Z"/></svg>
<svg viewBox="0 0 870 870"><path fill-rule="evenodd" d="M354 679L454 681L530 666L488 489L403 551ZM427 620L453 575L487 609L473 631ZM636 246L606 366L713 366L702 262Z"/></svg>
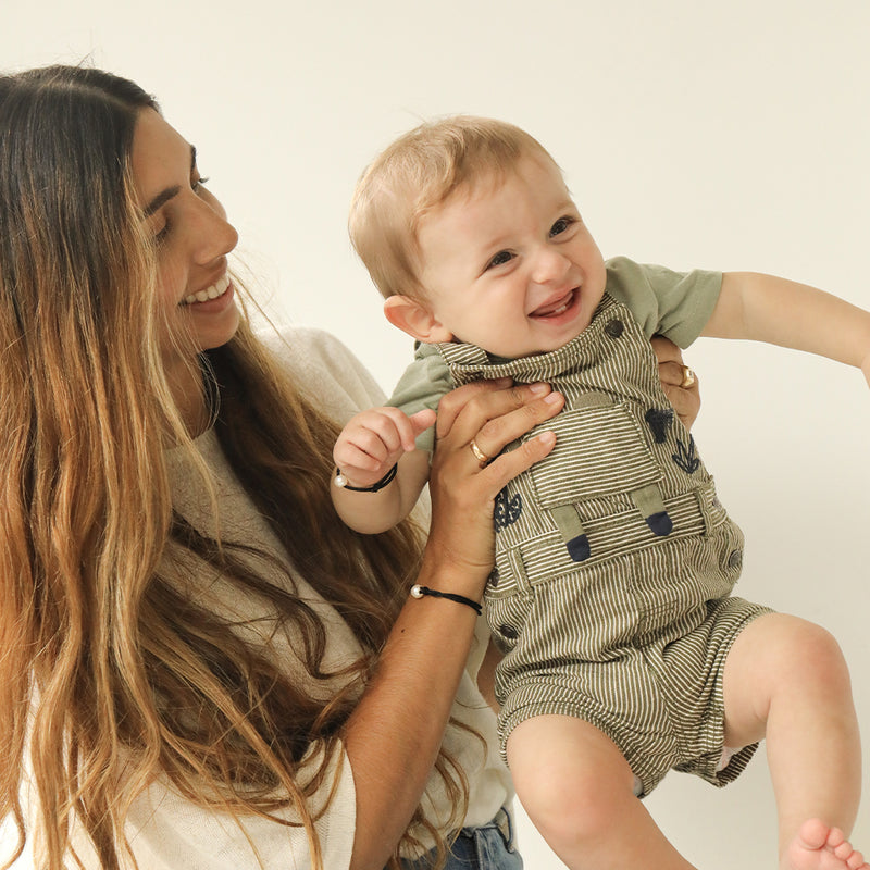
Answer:
<svg viewBox="0 0 870 870"><path fill-rule="evenodd" d="M435 411L418 411L410 417L398 408L362 411L341 431L333 459L351 486L371 486L402 453L415 449L417 436L434 422Z"/></svg>

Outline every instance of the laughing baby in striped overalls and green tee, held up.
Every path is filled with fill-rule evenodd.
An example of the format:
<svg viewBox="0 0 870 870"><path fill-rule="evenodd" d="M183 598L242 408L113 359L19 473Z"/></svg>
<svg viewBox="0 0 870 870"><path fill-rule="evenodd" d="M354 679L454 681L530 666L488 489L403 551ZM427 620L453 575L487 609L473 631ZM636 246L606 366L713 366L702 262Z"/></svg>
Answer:
<svg viewBox="0 0 870 870"><path fill-rule="evenodd" d="M753 338L870 383L870 314L768 275L605 262L548 152L485 119L394 142L361 178L350 229L418 347L390 407L335 446L348 524L378 532L412 508L447 390L508 376L564 399L552 452L496 499L485 596L502 753L552 849L571 868L691 867L637 797L671 769L724 785L767 737L780 867L868 870L843 833L861 773L842 654L820 627L732 596L743 537L649 339ZM486 426L469 448L492 459Z"/></svg>

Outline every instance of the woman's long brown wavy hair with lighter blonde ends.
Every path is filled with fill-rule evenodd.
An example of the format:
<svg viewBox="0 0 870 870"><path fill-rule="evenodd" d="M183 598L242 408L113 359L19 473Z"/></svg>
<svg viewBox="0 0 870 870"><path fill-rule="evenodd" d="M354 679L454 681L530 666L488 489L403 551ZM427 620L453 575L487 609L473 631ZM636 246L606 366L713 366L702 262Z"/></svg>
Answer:
<svg viewBox="0 0 870 870"><path fill-rule="evenodd" d="M133 858L132 803L163 776L215 811L289 808L320 867L307 801L330 787L327 761L420 535L406 523L363 536L337 520L325 485L336 428L246 318L200 355L232 467L364 650L345 689L313 700L303 686L330 676L325 630L291 577L271 584L240 543L210 539L173 510L165 446L195 453L161 362L153 244L129 170L146 108L157 107L137 85L95 69L0 77L0 818L14 818L20 854L29 758L40 866L61 870L75 824L113 870ZM295 626L308 680L187 597L178 551ZM297 775L312 746L324 763ZM461 818L462 774L446 756L438 769ZM435 833L419 809L414 821Z"/></svg>

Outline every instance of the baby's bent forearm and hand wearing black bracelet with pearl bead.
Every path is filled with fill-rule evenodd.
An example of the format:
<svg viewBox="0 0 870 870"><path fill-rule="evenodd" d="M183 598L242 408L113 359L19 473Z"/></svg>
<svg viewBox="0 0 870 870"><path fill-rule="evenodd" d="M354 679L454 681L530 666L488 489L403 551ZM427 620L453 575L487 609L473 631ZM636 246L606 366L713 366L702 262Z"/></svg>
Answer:
<svg viewBox="0 0 870 870"><path fill-rule="evenodd" d="M375 534L411 512L428 477L428 453L418 450L414 439L434 422L434 411L408 417L389 407L372 408L350 419L333 449L347 486L337 486L335 477L330 486L335 510L347 525ZM386 486L357 492L377 484L394 465L396 477Z"/></svg>

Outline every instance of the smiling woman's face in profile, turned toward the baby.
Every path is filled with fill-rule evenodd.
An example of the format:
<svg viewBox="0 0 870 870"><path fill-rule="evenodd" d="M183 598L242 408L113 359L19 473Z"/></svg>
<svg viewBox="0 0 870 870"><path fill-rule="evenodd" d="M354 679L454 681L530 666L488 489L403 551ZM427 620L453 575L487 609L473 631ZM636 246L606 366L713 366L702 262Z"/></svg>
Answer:
<svg viewBox="0 0 870 870"><path fill-rule="evenodd" d="M132 166L157 244L158 293L169 331L192 336L197 352L220 347L239 322L226 260L238 234L203 186L194 147L153 109L144 109L136 121ZM177 347L165 336L164 357Z"/></svg>

